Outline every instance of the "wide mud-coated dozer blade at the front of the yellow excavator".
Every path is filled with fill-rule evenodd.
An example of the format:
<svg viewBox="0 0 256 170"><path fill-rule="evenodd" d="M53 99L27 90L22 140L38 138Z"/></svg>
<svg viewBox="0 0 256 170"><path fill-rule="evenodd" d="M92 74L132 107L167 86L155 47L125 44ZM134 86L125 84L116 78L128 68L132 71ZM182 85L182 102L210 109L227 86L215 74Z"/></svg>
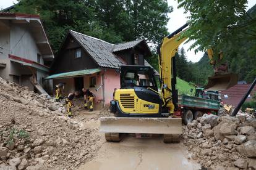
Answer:
<svg viewBox="0 0 256 170"><path fill-rule="evenodd" d="M100 118L100 132L182 134L181 118Z"/></svg>

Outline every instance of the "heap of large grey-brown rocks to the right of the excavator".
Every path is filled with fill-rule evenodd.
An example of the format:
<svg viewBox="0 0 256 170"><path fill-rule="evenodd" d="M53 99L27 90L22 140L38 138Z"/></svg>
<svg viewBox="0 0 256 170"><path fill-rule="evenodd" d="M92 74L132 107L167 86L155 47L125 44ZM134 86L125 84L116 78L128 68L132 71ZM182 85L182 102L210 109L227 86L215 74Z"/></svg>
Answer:
<svg viewBox="0 0 256 170"><path fill-rule="evenodd" d="M184 144L208 169L256 169L256 119L203 115L183 127Z"/></svg>

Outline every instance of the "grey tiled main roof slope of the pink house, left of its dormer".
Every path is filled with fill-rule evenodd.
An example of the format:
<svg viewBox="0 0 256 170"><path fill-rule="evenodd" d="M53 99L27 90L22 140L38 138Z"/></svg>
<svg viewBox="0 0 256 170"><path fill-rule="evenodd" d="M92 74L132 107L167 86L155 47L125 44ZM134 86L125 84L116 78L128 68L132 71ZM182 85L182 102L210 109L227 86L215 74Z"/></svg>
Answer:
<svg viewBox="0 0 256 170"><path fill-rule="evenodd" d="M114 44L72 30L69 33L72 34L100 67L119 68L120 65L124 64L111 52Z"/></svg>

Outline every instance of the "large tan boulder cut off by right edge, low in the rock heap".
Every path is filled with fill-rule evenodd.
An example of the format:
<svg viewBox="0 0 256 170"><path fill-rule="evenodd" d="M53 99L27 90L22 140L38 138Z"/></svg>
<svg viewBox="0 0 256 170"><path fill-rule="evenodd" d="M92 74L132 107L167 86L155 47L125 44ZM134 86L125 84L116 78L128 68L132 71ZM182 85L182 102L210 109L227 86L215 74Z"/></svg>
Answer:
<svg viewBox="0 0 256 170"><path fill-rule="evenodd" d="M255 140L249 140L244 144L239 145L236 149L239 153L249 158L256 157L256 141Z"/></svg>

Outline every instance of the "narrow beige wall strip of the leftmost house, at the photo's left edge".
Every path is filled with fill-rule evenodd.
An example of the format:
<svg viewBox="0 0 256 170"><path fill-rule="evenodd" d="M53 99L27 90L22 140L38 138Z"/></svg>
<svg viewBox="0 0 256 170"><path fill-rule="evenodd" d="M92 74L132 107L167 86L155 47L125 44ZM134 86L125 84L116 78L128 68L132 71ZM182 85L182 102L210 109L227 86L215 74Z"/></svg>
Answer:
<svg viewBox="0 0 256 170"><path fill-rule="evenodd" d="M8 25L8 23L0 20L0 63L6 64L5 68L0 67L0 76L4 79L12 80L12 76L9 75L10 28Z"/></svg>

